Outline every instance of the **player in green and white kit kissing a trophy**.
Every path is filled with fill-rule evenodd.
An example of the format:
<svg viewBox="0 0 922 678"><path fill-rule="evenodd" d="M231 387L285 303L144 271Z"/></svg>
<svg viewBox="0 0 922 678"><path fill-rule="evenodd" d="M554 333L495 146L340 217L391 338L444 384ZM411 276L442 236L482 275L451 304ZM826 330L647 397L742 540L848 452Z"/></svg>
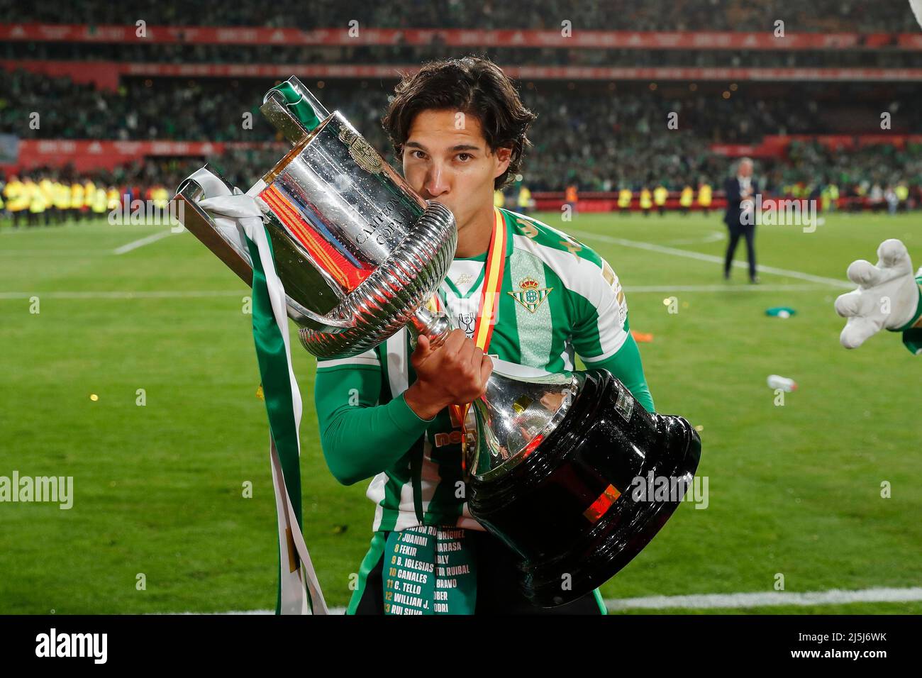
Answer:
<svg viewBox="0 0 922 678"><path fill-rule="evenodd" d="M423 65L384 116L408 184L455 215L455 260L435 303L456 328L437 348L420 336L414 349L403 329L317 363L327 464L339 482L372 479L372 542L349 613L605 613L597 590L532 605L514 553L467 508L470 434L454 406L484 393L491 356L541 374L573 371L579 356L654 409L613 268L570 235L494 206L521 171L535 117L499 67L474 57Z"/></svg>

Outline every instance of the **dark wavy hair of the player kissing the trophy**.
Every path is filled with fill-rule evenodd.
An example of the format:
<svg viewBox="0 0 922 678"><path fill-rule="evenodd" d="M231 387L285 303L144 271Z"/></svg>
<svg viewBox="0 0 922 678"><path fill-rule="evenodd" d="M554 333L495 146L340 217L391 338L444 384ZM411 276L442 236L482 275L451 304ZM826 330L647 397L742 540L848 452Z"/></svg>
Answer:
<svg viewBox="0 0 922 678"><path fill-rule="evenodd" d="M509 167L493 181L495 188L510 184L531 146L528 126L538 117L519 98L512 80L489 59L465 56L423 64L405 75L394 90L394 100L381 120L397 158L403 156L410 125L426 110L459 111L477 117L491 153L512 149Z"/></svg>

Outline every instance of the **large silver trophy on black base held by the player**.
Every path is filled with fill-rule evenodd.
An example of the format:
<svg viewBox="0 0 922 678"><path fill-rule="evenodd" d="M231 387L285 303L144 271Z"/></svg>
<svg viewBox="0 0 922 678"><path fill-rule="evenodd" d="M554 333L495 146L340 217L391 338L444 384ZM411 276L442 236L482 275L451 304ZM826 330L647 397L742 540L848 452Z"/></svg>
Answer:
<svg viewBox="0 0 922 678"><path fill-rule="evenodd" d="M453 324L426 304L455 256L451 211L422 199L297 78L270 90L261 110L292 148L248 194L304 348L318 358L356 355L402 327L438 346ZM201 172L177 189L183 225L251 284L241 234L197 204L209 189ZM691 482L697 467L700 440L688 422L647 413L605 371L536 376L496 363L470 410L471 514L521 556L523 589L541 605L613 576L678 506L681 496L632 501L632 477L656 470ZM561 572L570 589L561 590Z"/></svg>

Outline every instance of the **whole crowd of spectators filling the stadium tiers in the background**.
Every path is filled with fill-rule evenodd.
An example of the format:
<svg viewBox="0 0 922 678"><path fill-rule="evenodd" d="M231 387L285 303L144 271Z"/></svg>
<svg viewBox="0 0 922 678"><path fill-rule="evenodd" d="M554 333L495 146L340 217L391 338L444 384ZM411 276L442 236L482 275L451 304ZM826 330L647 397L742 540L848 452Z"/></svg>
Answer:
<svg viewBox="0 0 922 678"><path fill-rule="evenodd" d="M11 0L0 10L14 12ZM293 0L279 0L254 10L203 0L195 6L142 0L127 7L85 0L80 4L16 6L18 21L49 23L150 25L226 25L297 27L346 26L359 18L364 26L393 28L523 28L557 30L561 20L573 29L594 30L772 30L784 19L787 30L916 30L904 0L859 3L852 0L796 0L752 4L741 0L650 0L645 3L577 3L534 0L509 5L486 0L417 2L399 12L365 6L356 0L318 0L310 10ZM841 52L747 52L707 50L568 50L501 47L484 54L503 65L914 65L916 54L887 50ZM424 47L394 45L313 47L202 44L106 44L78 42L6 42L0 55L11 59L65 58L112 61L234 63L413 63L456 55L439 41ZM308 82L330 110L338 109L376 149L397 165L380 125L392 85L385 81ZM881 111L892 113L894 135L922 130L922 109L909 85L817 83L647 83L527 81L519 83L526 105L538 113L529 137L524 182L530 191L630 191L650 196L657 187L668 192L719 186L731 161L715 144L758 145L766 135L879 134ZM726 90L724 88L727 88ZM0 134L20 139L198 140L217 142L278 140L258 111L265 80L123 77L115 90L96 89L68 77L48 77L27 70L0 69ZM38 118L34 113L39 113ZM669 126L669 116L675 123ZM244 124L249 117L252 125ZM918 145L904 149L866 146L835 149L820 143L792 143L786 157L761 161L758 171L766 192L776 195L853 196L875 205L912 200L922 187ZM77 177L72 168L29 172L14 187L29 184L30 196L41 186L87 182L139 194L171 188L204 160L238 185L250 185L279 158L278 149L231 148L221 156L148 158ZM3 179L0 172L0 180ZM32 188L35 186L36 188ZM519 190L517 183L513 189ZM706 193L706 192L705 192ZM23 191L20 190L22 195ZM905 195L904 195L905 194ZM53 192L35 198L54 205ZM57 194L62 204L64 192ZM84 195L89 195L85 189ZM652 198L648 196L649 202ZM890 197L888 197L890 196ZM903 197L901 197L903 196ZM21 197L19 198L21 202ZM84 198L81 198L84 199ZM8 202L8 201L7 201ZM77 204L77 198L72 201ZM85 198L81 210L92 211ZM654 201L655 202L655 201ZM101 205L101 198L97 201ZM14 201L14 204L18 204ZM52 207L50 209L58 210ZM6 207L6 212L10 210ZM51 218L51 217L49 217Z"/></svg>

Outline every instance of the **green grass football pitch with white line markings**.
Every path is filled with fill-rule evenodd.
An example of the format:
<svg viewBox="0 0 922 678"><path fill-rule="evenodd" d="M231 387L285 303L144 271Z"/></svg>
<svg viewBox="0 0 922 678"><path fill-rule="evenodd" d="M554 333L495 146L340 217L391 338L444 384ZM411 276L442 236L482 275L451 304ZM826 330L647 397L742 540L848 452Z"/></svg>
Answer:
<svg viewBox="0 0 922 678"><path fill-rule="evenodd" d="M845 351L833 311L849 262L876 261L885 238L901 238L922 264L920 216L831 215L816 232L761 226L759 286L745 268L722 279L726 240L713 213L538 218L618 273L632 329L653 335L640 347L656 410L684 416L703 441L707 507L683 503L602 587L606 599L730 596L725 608L658 610L709 613L727 611L732 594L774 594L782 580L786 593L920 586L922 357L890 333ZM249 292L190 234L158 237L167 231L104 221L0 227L0 476L74 479L70 509L0 504L0 613L275 604L276 513ZM797 314L765 315L772 306ZM305 403L304 534L327 603L341 607L373 506L367 482L344 487L326 469L313 359L296 341L293 354ZM772 374L798 382L783 405L766 385ZM922 613L918 595L822 600L728 611Z"/></svg>

